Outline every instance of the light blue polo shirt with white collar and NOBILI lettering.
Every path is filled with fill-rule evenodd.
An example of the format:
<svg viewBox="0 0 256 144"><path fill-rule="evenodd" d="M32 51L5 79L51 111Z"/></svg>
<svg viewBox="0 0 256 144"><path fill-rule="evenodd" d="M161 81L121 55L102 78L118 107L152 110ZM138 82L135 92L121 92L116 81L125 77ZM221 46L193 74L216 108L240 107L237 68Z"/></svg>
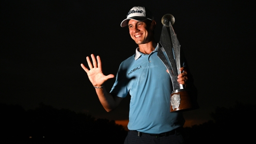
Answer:
<svg viewBox="0 0 256 144"><path fill-rule="evenodd" d="M129 130L162 133L184 125L182 113L170 113L171 78L157 50L146 55L137 48L117 72L110 93L124 98L129 92Z"/></svg>

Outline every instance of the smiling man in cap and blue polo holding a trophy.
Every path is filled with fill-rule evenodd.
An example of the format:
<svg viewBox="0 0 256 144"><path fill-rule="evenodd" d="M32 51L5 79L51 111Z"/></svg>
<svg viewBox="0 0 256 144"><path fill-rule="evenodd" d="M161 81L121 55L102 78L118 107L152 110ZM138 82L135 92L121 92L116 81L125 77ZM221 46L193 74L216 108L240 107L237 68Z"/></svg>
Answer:
<svg viewBox="0 0 256 144"><path fill-rule="evenodd" d="M182 144L180 132L185 120L180 112L170 113L172 83L166 67L157 56L160 44L153 37L156 21L146 8L133 7L121 23L121 27L126 26L139 47L135 55L120 64L110 93L103 84L114 75L102 73L99 56L91 55L93 63L86 57L90 70L83 64L81 67L87 72L107 112L115 109L129 92L129 132L125 144ZM182 63L182 73L177 81L185 85L188 73L183 72L186 65Z"/></svg>

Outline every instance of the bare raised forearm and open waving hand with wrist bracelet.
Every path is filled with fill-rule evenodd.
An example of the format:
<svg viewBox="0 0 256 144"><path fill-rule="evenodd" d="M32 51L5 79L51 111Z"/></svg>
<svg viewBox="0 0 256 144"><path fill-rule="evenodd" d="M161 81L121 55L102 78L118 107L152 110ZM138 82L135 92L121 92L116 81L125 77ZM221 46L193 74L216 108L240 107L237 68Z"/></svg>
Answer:
<svg viewBox="0 0 256 144"><path fill-rule="evenodd" d="M110 112L119 105L119 103L122 101L123 98L112 96L112 94L106 91L106 88L103 86L103 84L108 79L113 78L114 75L113 74L104 75L102 73L101 60L99 56L97 56L97 60L93 54L91 55L91 57L92 57L93 64L90 58L86 57L90 70L87 69L83 64L81 64L81 67L87 73L88 78L93 84L93 86L100 87L100 88L95 88L99 101L104 107L104 109L107 112Z"/></svg>

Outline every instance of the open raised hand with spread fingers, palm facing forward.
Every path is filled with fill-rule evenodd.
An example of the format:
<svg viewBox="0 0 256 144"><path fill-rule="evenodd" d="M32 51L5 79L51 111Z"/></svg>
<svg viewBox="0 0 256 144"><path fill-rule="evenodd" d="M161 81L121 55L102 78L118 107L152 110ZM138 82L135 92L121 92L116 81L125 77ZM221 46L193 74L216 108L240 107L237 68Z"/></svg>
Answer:
<svg viewBox="0 0 256 144"><path fill-rule="evenodd" d="M87 60L90 70L87 69L83 64L81 64L81 67L87 73L89 80L91 81L93 86L97 86L97 87L103 86L103 83L105 81L107 81L108 79L113 78L114 75L113 74L109 74L107 76L104 75L102 72L101 60L100 60L99 56L96 57L97 60L93 54L91 55L91 57L93 60L93 64L92 64L90 58L86 57L86 60Z"/></svg>

